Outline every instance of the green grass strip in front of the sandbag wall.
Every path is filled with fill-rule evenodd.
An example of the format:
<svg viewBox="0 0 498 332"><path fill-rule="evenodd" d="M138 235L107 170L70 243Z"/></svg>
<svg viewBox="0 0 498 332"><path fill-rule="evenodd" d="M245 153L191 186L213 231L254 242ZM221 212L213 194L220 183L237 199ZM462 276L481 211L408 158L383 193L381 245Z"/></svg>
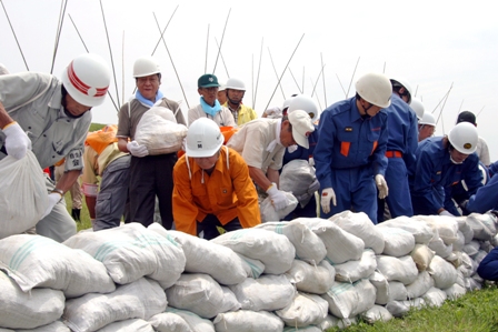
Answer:
<svg viewBox="0 0 498 332"><path fill-rule="evenodd" d="M402 319L368 324L360 321L345 330L348 332L498 332L498 288L484 286L480 291L447 300L440 308L411 310Z"/></svg>

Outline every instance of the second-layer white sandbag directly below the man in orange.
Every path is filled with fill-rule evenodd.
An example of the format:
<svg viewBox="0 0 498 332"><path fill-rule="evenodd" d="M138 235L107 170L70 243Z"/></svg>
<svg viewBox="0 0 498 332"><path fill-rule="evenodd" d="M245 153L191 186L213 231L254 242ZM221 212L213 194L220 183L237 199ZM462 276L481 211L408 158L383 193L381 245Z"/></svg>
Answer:
<svg viewBox="0 0 498 332"><path fill-rule="evenodd" d="M226 296L220 284L203 273L182 274L166 290L166 295L171 306L191 311L205 319L240 308L235 298Z"/></svg>

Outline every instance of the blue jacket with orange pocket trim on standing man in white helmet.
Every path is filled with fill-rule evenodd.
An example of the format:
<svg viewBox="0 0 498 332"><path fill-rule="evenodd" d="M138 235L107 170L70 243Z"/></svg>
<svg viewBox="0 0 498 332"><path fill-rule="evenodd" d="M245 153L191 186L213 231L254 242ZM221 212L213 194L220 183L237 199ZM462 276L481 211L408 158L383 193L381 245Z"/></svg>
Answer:
<svg viewBox="0 0 498 332"><path fill-rule="evenodd" d="M321 188L332 187L332 169L368 167L372 175L386 173L387 113L362 119L356 100L339 101L320 115L313 159Z"/></svg>

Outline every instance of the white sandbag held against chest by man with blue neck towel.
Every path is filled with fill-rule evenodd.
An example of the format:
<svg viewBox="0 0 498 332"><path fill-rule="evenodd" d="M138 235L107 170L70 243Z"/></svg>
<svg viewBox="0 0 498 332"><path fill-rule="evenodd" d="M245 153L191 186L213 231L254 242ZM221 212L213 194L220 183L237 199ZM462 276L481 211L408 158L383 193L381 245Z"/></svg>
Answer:
<svg viewBox="0 0 498 332"><path fill-rule="evenodd" d="M146 145L149 154L167 154L181 150L188 128L177 123L173 113L176 111L155 105L140 118L135 140L140 145Z"/></svg>

